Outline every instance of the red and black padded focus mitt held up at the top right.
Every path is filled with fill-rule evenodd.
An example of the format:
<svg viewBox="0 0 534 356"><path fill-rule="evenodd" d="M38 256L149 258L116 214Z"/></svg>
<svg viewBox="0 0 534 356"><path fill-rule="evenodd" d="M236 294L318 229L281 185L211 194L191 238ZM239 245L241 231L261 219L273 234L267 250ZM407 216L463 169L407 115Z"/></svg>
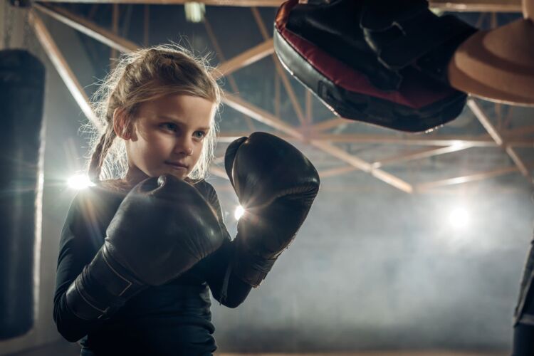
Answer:
<svg viewBox="0 0 534 356"><path fill-rule="evenodd" d="M386 19L377 16L380 8L373 1L316 3L289 0L282 4L275 21L274 46L286 69L336 115L420 132L444 125L461 113L466 94L440 81L446 78L440 70L447 62L434 65L433 61L439 58L435 53L439 45L458 46L449 42L468 36L472 28L432 18L423 0L397 6L398 16L389 14ZM403 28L395 26L399 19L404 20ZM425 30L417 28L418 21L431 25L431 31L440 29L435 43L431 45L426 34L419 36ZM447 28L455 26L461 29L447 36ZM399 47L399 56L394 56Z"/></svg>

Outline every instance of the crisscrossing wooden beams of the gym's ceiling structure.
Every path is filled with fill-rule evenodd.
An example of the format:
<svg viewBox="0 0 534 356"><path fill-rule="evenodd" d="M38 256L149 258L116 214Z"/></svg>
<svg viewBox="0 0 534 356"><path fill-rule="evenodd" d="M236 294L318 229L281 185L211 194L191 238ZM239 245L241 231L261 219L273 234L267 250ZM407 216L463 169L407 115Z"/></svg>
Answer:
<svg viewBox="0 0 534 356"><path fill-rule="evenodd" d="M75 2L75 3L105 3L116 4L113 6L113 26L112 29L103 28L97 23L90 21L90 19L84 18L78 14L74 14L67 9L57 6L56 4L50 4L56 2L56 0L41 1L39 3L33 3L32 8L29 10L28 19L33 26L38 41L41 43L44 51L55 66L59 75L66 84L68 90L73 95L76 103L80 106L80 109L92 120L95 125L100 127L100 122L95 118L90 107L88 95L85 93L83 86L80 85L73 71L70 69L66 58L63 57L56 42L51 36L50 32L46 28L45 24L41 20L43 14L51 16L57 21L61 21L74 28L86 36L90 36L101 43L109 46L112 51L128 52L135 51L138 48L136 43L129 41L127 38L119 36L117 33L118 28L118 5L117 4L184 4L187 1L184 0L57 0L57 2ZM342 165L335 168L320 170L320 177L335 177L347 172L353 172L360 170L370 176L379 179L385 184L389 184L392 187L400 189L402 192L426 192L436 187L444 187L452 184L462 184L465 182L473 182L481 179L489 179L491 177L498 177L503 174L512 174L519 172L528 182L533 183L532 167L528 167L530 162L525 162L525 159L520 156L518 150L520 149L534 149L533 140L525 137L534 133L534 125L530 124L523 127L518 127L512 130L502 130L493 123L494 120L490 120L483 108L481 108L480 102L474 98L469 98L467 106L469 110L473 112L478 121L483 125L487 134L485 135L410 135L400 132L395 132L395 135L380 135L367 133L332 133L329 132L340 125L347 125L353 121L345 120L341 117L332 117L330 120L323 120L315 122L311 113L311 100L312 95L308 90L305 94L305 105L300 104L298 95L295 94L293 86L290 84L290 75L283 69L281 63L278 61L273 48L272 34L268 33L265 23L263 23L261 16L256 9L256 6L279 6L283 1L281 0L204 0L201 1L206 5L211 6L246 6L251 7L252 15L258 25L263 42L258 43L256 46L248 48L238 56L224 58L221 47L215 36L213 29L208 21L204 21L206 26L206 32L213 44L218 58L221 61L216 68L218 75L224 75L229 83L229 86L233 93L239 93L236 80L232 77L232 73L250 66L252 63L256 63L263 58L271 56L276 68L276 75L280 78L281 85L286 90L288 99L293 107L296 117L298 118L299 125L291 125L288 121L283 120L281 117L273 112L268 112L263 108L259 108L258 105L247 102L239 95L232 93L225 93L223 98L224 105L227 105L244 115L248 132L236 131L236 132L221 132L219 135L219 142L231 142L237 137L248 135L254 129L254 121L261 122L264 125L272 127L277 135L283 137L291 142L299 142L304 145L313 147L315 150L320 150L325 155L337 159L342 162ZM520 12L521 3L520 0L454 0L454 1L430 1L431 6L436 9L444 11L482 11L482 12ZM145 26L145 31L148 31ZM279 93L278 93L279 95ZM439 130L438 130L439 131ZM381 159L374 160L372 162L362 159L354 153L348 152L344 148L340 147L340 143L356 143L356 144L375 144L375 145L413 145L422 146L417 150L410 150L400 155L392 155L390 157L383 157ZM424 182L419 184L412 184L400 177L395 176L392 173L387 172L384 166L388 164L394 164L399 162L409 162L416 159L424 159L427 157L434 157L438 155L445 155L451 152L459 152L468 150L473 147L496 147L500 148L503 155L508 155L510 162L513 164L507 164L503 167L494 167L493 169L486 170L484 172L475 172L473 174L462 175L458 177L448 177L438 179L433 182ZM220 163L221 159L216 159L215 163ZM226 177L223 169L217 167L215 164L211 169L213 174L220 177Z"/></svg>

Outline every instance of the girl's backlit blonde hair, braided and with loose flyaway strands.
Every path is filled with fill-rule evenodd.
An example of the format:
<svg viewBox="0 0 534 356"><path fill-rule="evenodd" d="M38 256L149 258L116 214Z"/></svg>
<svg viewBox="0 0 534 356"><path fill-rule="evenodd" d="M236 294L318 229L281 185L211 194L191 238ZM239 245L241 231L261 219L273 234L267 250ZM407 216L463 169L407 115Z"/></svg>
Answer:
<svg viewBox="0 0 534 356"><path fill-rule="evenodd" d="M92 181L118 179L125 176L128 164L124 140L115 140L113 112L120 110L127 124L135 120L135 112L145 101L168 94L192 95L219 107L221 89L211 75L206 58L194 57L181 46L160 45L126 53L119 58L115 69L103 80L93 95L93 110L102 123L103 132L91 125L88 175ZM189 174L191 179L204 179L214 157L216 122L204 137L204 148L199 161Z"/></svg>

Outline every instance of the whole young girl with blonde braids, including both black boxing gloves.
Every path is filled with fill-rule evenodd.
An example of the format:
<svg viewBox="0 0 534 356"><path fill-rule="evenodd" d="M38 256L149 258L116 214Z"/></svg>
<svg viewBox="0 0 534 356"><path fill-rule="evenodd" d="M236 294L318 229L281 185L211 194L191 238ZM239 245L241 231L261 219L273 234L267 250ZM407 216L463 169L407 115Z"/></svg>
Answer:
<svg viewBox="0 0 534 356"><path fill-rule="evenodd" d="M105 132L88 169L95 187L75 197L61 234L58 330L81 339L81 355L211 355L209 290L235 308L261 283L308 214L317 172L271 135L234 142L225 166L254 213L231 241L204 181L221 95L206 66L182 48L142 49L122 57L102 88ZM283 166L297 175L280 179ZM121 178L100 181L112 172Z"/></svg>

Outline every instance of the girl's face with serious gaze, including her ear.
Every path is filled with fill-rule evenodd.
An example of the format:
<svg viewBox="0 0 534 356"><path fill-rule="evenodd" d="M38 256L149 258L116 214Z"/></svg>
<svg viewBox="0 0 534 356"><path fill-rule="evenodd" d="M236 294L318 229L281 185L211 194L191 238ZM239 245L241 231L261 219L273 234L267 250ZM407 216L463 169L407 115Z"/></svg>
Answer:
<svg viewBox="0 0 534 356"><path fill-rule="evenodd" d="M127 177L187 177L199 161L215 104L189 95L165 95L142 103L126 139Z"/></svg>

